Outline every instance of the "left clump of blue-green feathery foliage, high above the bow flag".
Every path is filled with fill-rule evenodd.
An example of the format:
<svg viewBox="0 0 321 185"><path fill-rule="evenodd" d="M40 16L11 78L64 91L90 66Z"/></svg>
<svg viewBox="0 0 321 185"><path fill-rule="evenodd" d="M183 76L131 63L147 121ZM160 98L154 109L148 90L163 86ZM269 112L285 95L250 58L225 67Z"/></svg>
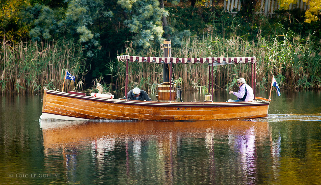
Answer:
<svg viewBox="0 0 321 185"><path fill-rule="evenodd" d="M101 17L110 18L112 12L106 11L101 0L65 0L66 9L52 9L36 4L26 8L26 20L32 25L32 40L51 39L53 36L78 37L80 43L99 46L95 22Z"/></svg>

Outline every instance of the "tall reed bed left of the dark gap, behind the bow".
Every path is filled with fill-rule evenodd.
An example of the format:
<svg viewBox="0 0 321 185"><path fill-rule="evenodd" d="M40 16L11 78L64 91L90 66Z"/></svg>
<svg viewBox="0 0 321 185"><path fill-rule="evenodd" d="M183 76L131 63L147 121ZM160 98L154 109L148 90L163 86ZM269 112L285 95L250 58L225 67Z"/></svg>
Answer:
<svg viewBox="0 0 321 185"><path fill-rule="evenodd" d="M42 92L42 87L61 90L65 69L78 80L67 81L64 91L82 88L82 48L72 40L20 42L3 40L0 50L2 94Z"/></svg>

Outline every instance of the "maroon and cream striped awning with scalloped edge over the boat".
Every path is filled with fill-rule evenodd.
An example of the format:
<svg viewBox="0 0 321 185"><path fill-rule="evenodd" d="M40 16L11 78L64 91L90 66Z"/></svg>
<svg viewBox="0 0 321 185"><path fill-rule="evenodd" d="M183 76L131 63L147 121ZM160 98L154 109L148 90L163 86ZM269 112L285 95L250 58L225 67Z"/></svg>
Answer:
<svg viewBox="0 0 321 185"><path fill-rule="evenodd" d="M255 63L256 57L204 57L204 58L176 58L176 57L135 57L129 55L117 56L118 61L129 60L131 62L149 62L149 63L165 63L170 62L174 64L182 63L208 63L213 66L224 64L238 64L238 63Z"/></svg>

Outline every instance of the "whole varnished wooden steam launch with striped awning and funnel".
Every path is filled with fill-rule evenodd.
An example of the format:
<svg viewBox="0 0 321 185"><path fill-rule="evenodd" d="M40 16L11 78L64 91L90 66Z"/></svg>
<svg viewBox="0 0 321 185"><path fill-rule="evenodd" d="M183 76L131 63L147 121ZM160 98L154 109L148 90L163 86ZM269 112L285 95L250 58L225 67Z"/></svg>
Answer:
<svg viewBox="0 0 321 185"><path fill-rule="evenodd" d="M44 87L41 119L115 119L115 120L218 120L266 118L270 99L256 97L251 102L213 102L212 92L204 102L178 102L179 87L171 82L171 65L178 63L200 63L209 65L209 87L213 84L213 66L225 64L252 64L252 87L255 79L256 57L170 57L170 40L164 41L164 57L118 56L126 62L126 88L128 62L164 64L163 83L159 84L158 101L134 101L128 99L105 99L86 96L85 93L51 91ZM254 73L253 73L254 65ZM210 73L212 71L212 73ZM254 83L255 84L255 83ZM166 89L167 88L167 89ZM168 95L166 95L168 94ZM173 96L175 96L173 98ZM167 101L166 101L167 100Z"/></svg>

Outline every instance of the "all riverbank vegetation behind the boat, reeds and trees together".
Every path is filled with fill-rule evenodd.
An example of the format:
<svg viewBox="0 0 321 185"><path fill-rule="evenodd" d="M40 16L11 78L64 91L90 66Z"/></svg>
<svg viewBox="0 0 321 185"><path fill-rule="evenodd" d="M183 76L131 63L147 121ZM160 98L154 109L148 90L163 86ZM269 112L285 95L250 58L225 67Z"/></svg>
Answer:
<svg viewBox="0 0 321 185"><path fill-rule="evenodd" d="M123 91L125 63L117 55L161 57L163 39L172 40L173 57L256 56L260 90L269 89L272 75L281 89L321 88L319 14L310 23L299 9L268 18L244 11L233 16L221 1L212 7L195 2L165 1L162 9L156 0L4 1L1 93L61 89L65 68L76 76L65 84L68 90L93 90L99 82L105 91ZM250 81L250 71L250 64L214 67L214 88L229 89L239 77ZM130 63L129 74L129 87L153 91L162 83L159 64ZM184 90L206 91L208 66L173 65L173 79Z"/></svg>

